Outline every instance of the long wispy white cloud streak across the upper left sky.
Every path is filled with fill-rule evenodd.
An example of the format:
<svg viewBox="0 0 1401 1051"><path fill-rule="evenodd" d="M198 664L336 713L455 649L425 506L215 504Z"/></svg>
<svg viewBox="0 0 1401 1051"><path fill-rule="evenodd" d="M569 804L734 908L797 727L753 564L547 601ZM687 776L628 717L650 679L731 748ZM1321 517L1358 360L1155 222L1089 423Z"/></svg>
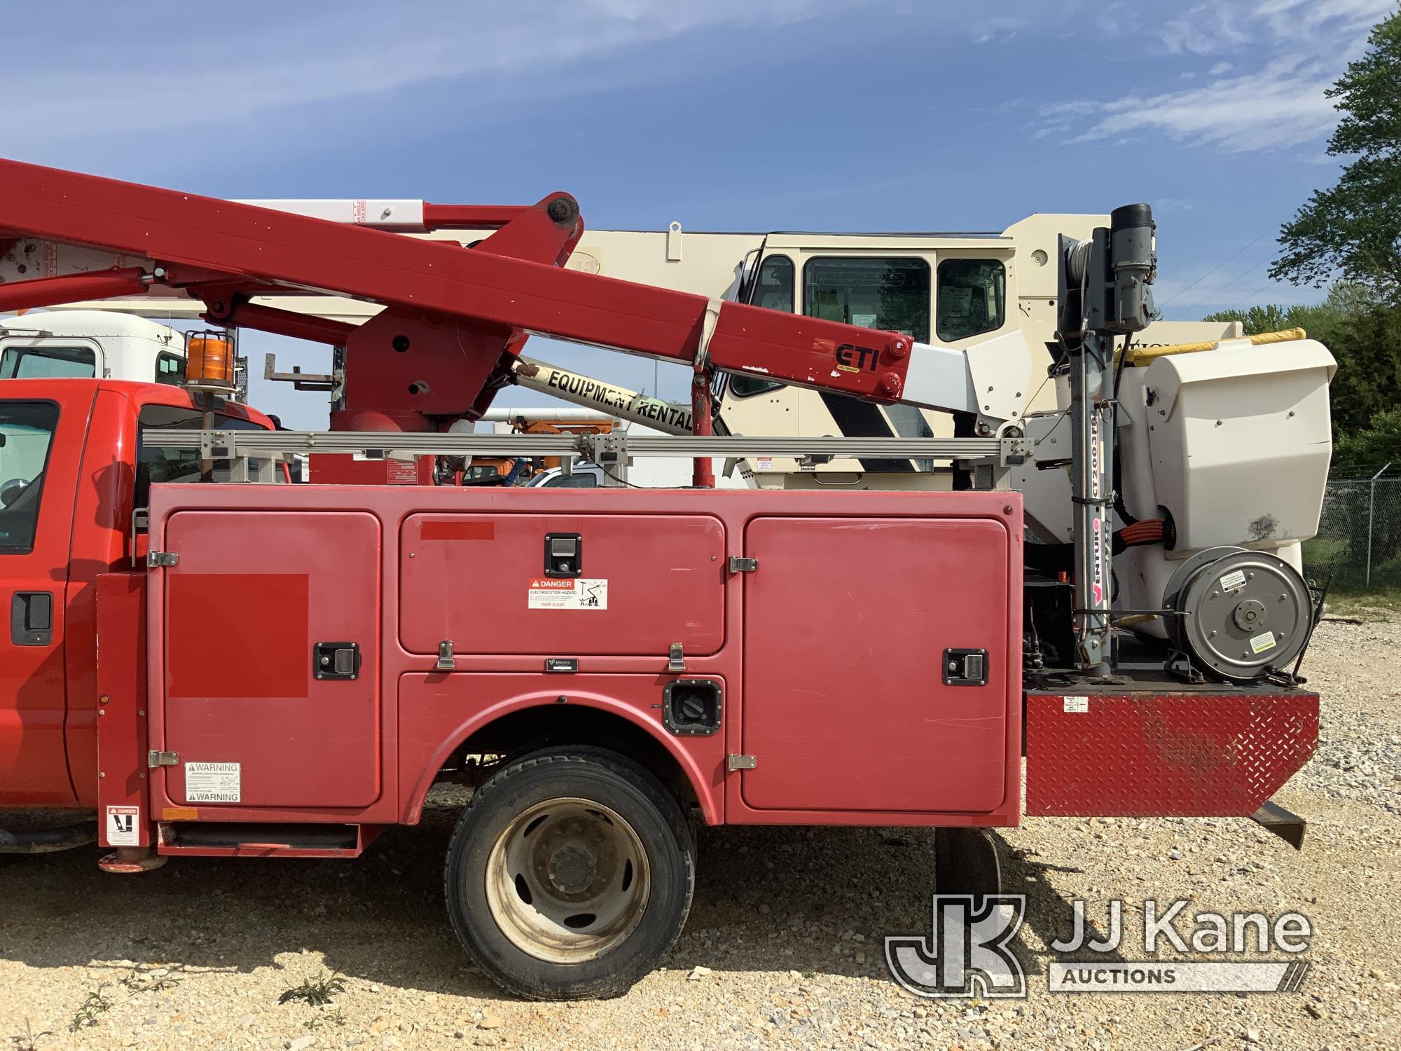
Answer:
<svg viewBox="0 0 1401 1051"><path fill-rule="evenodd" d="M70 36L69 46L46 52L42 92L11 95L0 105L7 142L41 147L94 135L231 129L308 104L342 104L342 116L354 119L357 99L453 78L476 83L454 95L462 102L489 102L507 84L517 95L577 90L569 70L590 63L602 67L601 77L628 83L629 66L609 59L664 49L696 31L773 29L859 1L361 1L314 13L289 7L275 28L254 14L228 24L217 13L214 24L200 25L207 14L196 7L178 24L163 22L154 38L139 22L112 27L126 39L85 43ZM27 35L38 38L62 21L49 17L55 25L41 21ZM90 27L87 39L101 32ZM11 27L10 39L20 43L24 35L17 38ZM143 53L144 62L113 60ZM635 66L633 74L644 76Z"/></svg>

